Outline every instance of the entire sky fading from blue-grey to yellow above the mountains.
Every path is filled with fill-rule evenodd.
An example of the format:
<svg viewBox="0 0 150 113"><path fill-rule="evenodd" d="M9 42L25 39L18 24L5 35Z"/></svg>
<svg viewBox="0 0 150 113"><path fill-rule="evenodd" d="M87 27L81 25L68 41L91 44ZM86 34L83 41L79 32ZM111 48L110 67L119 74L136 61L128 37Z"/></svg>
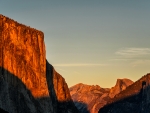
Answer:
<svg viewBox="0 0 150 113"><path fill-rule="evenodd" d="M150 72L149 0L1 0L0 13L44 32L69 86L111 87Z"/></svg>

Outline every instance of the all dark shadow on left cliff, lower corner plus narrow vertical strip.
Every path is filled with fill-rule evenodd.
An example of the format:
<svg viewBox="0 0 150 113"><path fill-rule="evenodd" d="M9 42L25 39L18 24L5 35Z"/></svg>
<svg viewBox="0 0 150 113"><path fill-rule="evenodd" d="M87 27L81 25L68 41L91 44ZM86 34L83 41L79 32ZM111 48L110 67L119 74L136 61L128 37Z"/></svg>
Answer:
<svg viewBox="0 0 150 113"><path fill-rule="evenodd" d="M9 113L78 113L72 101L57 100L53 85L53 67L47 62L46 68L50 97L34 98L17 76L0 67L0 108Z"/></svg>

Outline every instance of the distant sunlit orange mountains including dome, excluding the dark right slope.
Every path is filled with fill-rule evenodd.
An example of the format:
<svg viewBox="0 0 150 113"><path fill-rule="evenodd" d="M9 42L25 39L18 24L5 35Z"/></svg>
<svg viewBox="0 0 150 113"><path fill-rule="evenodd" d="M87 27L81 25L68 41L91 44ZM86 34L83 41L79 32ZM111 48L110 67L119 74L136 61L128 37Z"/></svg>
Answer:
<svg viewBox="0 0 150 113"><path fill-rule="evenodd" d="M81 113L98 113L99 109L106 105L111 98L132 83L129 79L118 79L116 85L111 89L80 83L70 88L70 94Z"/></svg>

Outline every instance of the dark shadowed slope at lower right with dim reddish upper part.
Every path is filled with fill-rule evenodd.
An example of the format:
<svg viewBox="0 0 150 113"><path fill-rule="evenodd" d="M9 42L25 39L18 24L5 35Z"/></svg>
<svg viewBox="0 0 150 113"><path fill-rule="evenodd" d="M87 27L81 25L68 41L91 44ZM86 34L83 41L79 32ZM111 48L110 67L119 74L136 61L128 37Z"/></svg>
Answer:
<svg viewBox="0 0 150 113"><path fill-rule="evenodd" d="M144 77L143 77L144 78ZM138 90L139 92L138 92ZM130 96L127 96L131 92ZM101 108L98 113L150 113L149 80L139 80Z"/></svg>

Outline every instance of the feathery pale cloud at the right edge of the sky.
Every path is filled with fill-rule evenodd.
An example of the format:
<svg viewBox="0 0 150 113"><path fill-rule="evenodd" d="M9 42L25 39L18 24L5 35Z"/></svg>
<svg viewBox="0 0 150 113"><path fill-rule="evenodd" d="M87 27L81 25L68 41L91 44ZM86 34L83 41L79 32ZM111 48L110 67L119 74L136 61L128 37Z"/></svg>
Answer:
<svg viewBox="0 0 150 113"><path fill-rule="evenodd" d="M115 52L115 54L126 58L143 57L150 55L150 48L123 48Z"/></svg>

